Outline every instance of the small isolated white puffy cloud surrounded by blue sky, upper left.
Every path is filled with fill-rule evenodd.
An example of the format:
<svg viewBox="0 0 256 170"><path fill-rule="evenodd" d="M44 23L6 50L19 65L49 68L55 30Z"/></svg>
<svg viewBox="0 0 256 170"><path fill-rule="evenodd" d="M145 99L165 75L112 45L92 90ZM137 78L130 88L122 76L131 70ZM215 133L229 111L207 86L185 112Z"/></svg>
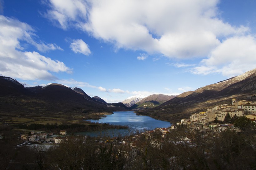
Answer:
<svg viewBox="0 0 256 170"><path fill-rule="evenodd" d="M84 55L91 54L91 50L89 49L88 45L81 39L72 40L70 44L70 48L75 53L81 53Z"/></svg>

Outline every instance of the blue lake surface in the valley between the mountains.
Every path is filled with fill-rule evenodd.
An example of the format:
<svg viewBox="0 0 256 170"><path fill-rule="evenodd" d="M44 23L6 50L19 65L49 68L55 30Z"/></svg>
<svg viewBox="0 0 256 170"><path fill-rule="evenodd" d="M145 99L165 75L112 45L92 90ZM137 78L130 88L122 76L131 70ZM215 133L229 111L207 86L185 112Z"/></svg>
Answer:
<svg viewBox="0 0 256 170"><path fill-rule="evenodd" d="M156 120L149 116L139 116L136 115L133 111L116 111L113 112L112 115L106 115L106 117L101 118L99 120L89 120L91 122L98 123L109 123L112 125L124 125L129 126L129 129L108 129L101 131L91 131L91 132L78 132L78 135L89 135L92 137L96 136L118 136L118 135L129 135L129 131L134 132L136 130L144 131L144 130L153 130L155 128L165 128L170 127L170 122Z"/></svg>

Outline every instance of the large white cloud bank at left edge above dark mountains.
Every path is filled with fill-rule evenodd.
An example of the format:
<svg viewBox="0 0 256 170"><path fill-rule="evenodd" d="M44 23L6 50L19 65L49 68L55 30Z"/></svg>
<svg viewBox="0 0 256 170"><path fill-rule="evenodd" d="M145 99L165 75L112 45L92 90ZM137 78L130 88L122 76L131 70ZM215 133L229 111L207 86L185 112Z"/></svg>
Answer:
<svg viewBox="0 0 256 170"><path fill-rule="evenodd" d="M24 51L22 42L35 46L39 51L56 50L53 44L41 44L33 39L35 30L16 19L0 16L0 72L2 75L23 80L57 79L51 72L72 70L63 62L52 60L38 52Z"/></svg>

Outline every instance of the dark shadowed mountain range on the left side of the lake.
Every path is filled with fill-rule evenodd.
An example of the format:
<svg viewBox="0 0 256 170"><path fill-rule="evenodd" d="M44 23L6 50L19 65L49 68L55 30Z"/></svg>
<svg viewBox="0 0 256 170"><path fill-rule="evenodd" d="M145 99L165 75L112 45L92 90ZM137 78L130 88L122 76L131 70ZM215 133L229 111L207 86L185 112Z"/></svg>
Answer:
<svg viewBox="0 0 256 170"><path fill-rule="evenodd" d="M0 114L29 116L91 114L127 111L122 106L109 107L91 99L81 89L61 84L25 88L16 80L0 76Z"/></svg>

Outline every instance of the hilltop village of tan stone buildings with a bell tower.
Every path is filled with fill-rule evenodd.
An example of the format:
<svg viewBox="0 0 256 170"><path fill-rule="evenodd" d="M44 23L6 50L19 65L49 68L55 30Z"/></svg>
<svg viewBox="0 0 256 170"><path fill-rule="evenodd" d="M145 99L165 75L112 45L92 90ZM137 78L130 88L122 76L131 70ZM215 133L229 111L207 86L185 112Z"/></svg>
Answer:
<svg viewBox="0 0 256 170"><path fill-rule="evenodd" d="M225 117L228 116L230 119L245 116L252 122L256 123L256 102L240 100L236 101L232 99L231 104L224 104L215 106L207 111L193 113L190 119L181 119L176 125L187 125L191 124L198 129L210 129L221 132L229 128L230 130L239 131L239 128L235 128L233 124L224 122Z"/></svg>

